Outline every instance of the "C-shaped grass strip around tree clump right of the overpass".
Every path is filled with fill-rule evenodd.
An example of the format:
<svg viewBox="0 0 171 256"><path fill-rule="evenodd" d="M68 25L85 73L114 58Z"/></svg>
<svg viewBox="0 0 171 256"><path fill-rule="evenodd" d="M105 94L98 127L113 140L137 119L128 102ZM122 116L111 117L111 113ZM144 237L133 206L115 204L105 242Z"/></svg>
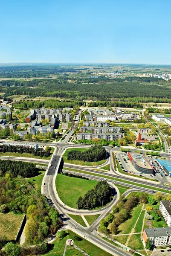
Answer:
<svg viewBox="0 0 171 256"><path fill-rule="evenodd" d="M84 162L84 161L79 161L79 160L67 160L68 152L73 151L73 150L87 151L88 149L87 148L69 148L69 149L67 149L62 156L64 163L73 163L73 164L78 164L78 165L82 165L82 166L99 166L106 162L106 159L101 160L99 162Z"/></svg>

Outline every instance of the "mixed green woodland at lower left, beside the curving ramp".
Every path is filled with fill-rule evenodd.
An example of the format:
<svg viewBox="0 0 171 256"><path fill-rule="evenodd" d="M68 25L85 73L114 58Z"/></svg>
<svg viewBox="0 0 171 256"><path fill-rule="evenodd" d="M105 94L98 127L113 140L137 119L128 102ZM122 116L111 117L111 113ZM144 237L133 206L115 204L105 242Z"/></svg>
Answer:
<svg viewBox="0 0 171 256"><path fill-rule="evenodd" d="M0 177L0 212L24 213L29 217L25 235L28 244L39 244L54 234L61 225L58 211L28 180L10 175ZM15 255L15 254L12 254Z"/></svg>

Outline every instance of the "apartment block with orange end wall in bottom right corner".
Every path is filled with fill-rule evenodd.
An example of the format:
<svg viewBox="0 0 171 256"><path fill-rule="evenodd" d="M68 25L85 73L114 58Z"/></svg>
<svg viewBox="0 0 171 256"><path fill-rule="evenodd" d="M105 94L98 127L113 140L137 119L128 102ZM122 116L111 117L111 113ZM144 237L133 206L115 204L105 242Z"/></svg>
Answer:
<svg viewBox="0 0 171 256"><path fill-rule="evenodd" d="M142 241L145 244L150 239L151 245L159 247L171 245L171 227L158 227L144 229Z"/></svg>

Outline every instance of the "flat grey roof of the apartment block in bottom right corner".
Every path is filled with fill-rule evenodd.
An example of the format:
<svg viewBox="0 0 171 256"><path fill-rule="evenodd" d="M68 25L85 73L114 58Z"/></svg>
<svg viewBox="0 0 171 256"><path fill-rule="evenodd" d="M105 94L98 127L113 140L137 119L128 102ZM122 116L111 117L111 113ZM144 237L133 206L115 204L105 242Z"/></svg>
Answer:
<svg viewBox="0 0 171 256"><path fill-rule="evenodd" d="M148 237L171 236L171 227L145 228Z"/></svg>

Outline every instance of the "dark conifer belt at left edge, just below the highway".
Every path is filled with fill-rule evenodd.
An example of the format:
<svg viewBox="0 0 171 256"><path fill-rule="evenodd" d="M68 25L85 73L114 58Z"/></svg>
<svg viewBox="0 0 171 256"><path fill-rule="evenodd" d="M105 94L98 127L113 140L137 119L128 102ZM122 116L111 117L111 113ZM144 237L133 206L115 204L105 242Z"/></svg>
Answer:
<svg viewBox="0 0 171 256"><path fill-rule="evenodd" d="M20 161L11 160L0 160L0 174L9 174L11 177L17 177L21 175L22 177L34 177L38 175L40 169L36 168L35 163L27 163Z"/></svg>

